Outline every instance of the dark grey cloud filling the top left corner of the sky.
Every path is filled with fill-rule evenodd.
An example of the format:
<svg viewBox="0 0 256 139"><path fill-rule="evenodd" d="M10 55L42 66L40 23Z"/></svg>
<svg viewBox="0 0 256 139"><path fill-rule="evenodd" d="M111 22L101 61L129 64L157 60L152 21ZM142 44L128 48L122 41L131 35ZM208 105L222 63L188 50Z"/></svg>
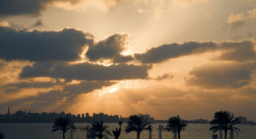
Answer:
<svg viewBox="0 0 256 139"><path fill-rule="evenodd" d="M39 16L54 1L75 4L79 0L1 0L0 16Z"/></svg>

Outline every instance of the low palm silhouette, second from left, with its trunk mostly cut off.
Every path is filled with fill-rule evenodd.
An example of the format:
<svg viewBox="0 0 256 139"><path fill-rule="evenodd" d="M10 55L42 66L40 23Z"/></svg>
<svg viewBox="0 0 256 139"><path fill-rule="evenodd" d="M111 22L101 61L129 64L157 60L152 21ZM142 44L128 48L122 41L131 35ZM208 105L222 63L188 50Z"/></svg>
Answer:
<svg viewBox="0 0 256 139"><path fill-rule="evenodd" d="M107 135L112 136L111 132L107 130L109 126L103 124L103 122L94 121L92 123L92 127L89 129L88 138L95 139L95 138L106 138L108 139Z"/></svg>

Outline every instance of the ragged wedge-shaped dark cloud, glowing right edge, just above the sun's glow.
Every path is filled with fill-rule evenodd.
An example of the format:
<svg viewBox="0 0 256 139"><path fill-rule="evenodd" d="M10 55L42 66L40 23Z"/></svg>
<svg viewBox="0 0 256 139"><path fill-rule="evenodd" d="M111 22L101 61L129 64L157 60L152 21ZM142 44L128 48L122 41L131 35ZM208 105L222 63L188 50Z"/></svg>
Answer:
<svg viewBox="0 0 256 139"><path fill-rule="evenodd" d="M98 61L101 59L111 59L117 63L132 61L132 56L120 54L125 50L124 45L127 44L126 38L127 35L123 34L111 35L109 38L99 41L93 47L89 47L86 55L90 61Z"/></svg>

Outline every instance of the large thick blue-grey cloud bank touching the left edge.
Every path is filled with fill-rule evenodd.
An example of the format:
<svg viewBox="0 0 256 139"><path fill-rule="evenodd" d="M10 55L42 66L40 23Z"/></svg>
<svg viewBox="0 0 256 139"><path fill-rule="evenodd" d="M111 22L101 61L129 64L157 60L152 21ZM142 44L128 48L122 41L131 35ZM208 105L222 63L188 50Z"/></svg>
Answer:
<svg viewBox="0 0 256 139"><path fill-rule="evenodd" d="M73 61L91 35L75 29L61 31L14 30L0 27L0 58L4 60Z"/></svg>

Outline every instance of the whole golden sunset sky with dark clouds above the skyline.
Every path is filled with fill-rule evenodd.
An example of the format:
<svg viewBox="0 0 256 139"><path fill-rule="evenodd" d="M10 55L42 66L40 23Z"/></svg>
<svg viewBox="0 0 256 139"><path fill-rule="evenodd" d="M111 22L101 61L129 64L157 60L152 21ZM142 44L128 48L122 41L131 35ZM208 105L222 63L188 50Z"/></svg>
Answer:
<svg viewBox="0 0 256 139"><path fill-rule="evenodd" d="M256 121L255 0L2 0L0 113Z"/></svg>

